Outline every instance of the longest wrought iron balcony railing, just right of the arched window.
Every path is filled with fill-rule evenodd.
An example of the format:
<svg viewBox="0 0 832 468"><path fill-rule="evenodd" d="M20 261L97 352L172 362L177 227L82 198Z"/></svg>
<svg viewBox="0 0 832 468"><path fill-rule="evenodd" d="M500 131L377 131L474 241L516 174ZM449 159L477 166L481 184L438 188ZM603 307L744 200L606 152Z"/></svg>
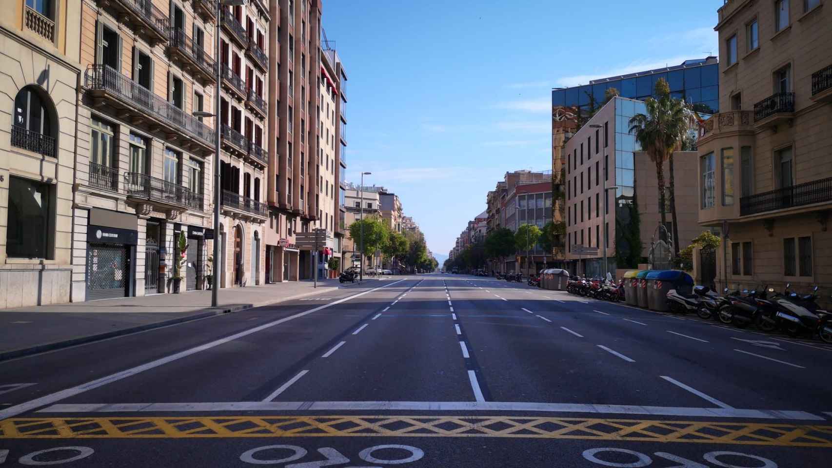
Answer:
<svg viewBox="0 0 832 468"><path fill-rule="evenodd" d="M165 123L187 138L214 145L214 129L199 119L172 105L144 86L132 81L107 65L92 65L84 73L84 86L94 91L106 91L122 103L135 107L146 116Z"/></svg>

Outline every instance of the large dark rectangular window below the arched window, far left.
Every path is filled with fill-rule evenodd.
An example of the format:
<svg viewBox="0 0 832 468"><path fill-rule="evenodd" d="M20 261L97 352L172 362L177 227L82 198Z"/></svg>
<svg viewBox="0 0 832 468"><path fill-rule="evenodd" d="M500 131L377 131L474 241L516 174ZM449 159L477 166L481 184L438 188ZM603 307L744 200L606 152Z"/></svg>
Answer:
<svg viewBox="0 0 832 468"><path fill-rule="evenodd" d="M52 259L52 186L9 177L6 254L17 259Z"/></svg>

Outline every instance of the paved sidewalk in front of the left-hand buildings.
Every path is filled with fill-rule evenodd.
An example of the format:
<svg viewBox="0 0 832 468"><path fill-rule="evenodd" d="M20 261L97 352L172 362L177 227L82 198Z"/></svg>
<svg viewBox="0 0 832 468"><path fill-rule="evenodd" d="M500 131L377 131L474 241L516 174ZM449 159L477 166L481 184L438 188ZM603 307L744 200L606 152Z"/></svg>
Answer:
<svg viewBox="0 0 832 468"><path fill-rule="evenodd" d="M359 284L325 279L318 288L311 281L222 288L218 308L210 307L210 291L191 291L0 310L0 361Z"/></svg>

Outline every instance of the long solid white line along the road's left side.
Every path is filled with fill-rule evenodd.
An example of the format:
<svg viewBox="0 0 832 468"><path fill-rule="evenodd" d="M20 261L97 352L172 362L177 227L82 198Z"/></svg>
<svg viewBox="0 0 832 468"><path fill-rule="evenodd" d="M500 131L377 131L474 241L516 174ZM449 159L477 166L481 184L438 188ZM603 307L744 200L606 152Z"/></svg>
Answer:
<svg viewBox="0 0 832 468"><path fill-rule="evenodd" d="M206 344L203 344L203 345L200 345L200 346L197 346L197 347L191 347L191 349L186 349L185 351L176 352L175 354L171 354L170 356L161 357L159 359L156 359L155 361L146 362L144 364L141 364L140 366L131 367L130 369L126 369L126 370L121 371L121 372L116 372L114 374L110 374L108 376L101 377L101 378L98 378L96 380L93 380L92 382L83 383L81 385L77 385L76 387L67 388L67 389L62 390L60 392L50 393L49 395L45 395L43 397L36 398L34 400L26 401L25 403L21 403L19 405L10 406L10 407L8 407L4 410L0 410L0 421L2 421L4 419L7 419L9 417L12 417L12 416L17 416L17 415L22 414L22 413L27 412L27 411L32 411L33 409L35 409L39 406L50 405L50 404L55 403L57 401L61 401L61 400L64 400L66 398L69 398L69 397L74 397L79 393L87 392L87 390L92 390L93 388L102 387L102 386L104 386L108 383L116 382L116 381L119 381L119 380L124 379L126 377L131 377L133 375L136 375L139 372L144 372L148 369L152 369L154 367L159 367L159 366L165 365L168 362L176 361L177 359L181 359L182 357L188 357L188 356L191 356L191 354L196 354L197 352L205 351L206 349L210 349L212 347L220 346L220 344L225 344L226 342L232 342L232 341L234 341L236 339L239 339L241 337L246 337L246 336L248 336L252 333L257 333L257 332L260 332L262 330L265 330L266 328L271 328L271 327L274 327L275 325L280 325L280 323L286 323L286 322L289 322L290 320L294 320L295 318L305 317L305 316L309 315L310 313L318 312L319 310L323 310L324 308L330 308L330 307L332 307L336 304L344 303L346 301L349 301L349 299L359 298L361 296L364 296L364 294L373 293L374 291L378 291L379 289L382 289L382 288L389 288L390 286L393 286L394 284L401 283L403 281L404 281L404 279L399 279L399 281L394 281L393 283L384 284L384 286L379 286L378 288L369 289L368 291L364 291L363 293L353 294L352 296L347 296L346 298L338 299L337 301L333 301L331 303L325 303L325 304L319 305L316 308L310 308L310 310L307 310L305 312L295 313L295 315L290 315L289 317L280 318L279 320L275 320L274 322L264 323L263 325L260 325L260 326L255 327L255 328L250 328L248 330L244 330L240 333L235 333L233 335L230 335L229 337L224 337L224 338L220 338L218 340L212 341L212 342L207 342Z"/></svg>

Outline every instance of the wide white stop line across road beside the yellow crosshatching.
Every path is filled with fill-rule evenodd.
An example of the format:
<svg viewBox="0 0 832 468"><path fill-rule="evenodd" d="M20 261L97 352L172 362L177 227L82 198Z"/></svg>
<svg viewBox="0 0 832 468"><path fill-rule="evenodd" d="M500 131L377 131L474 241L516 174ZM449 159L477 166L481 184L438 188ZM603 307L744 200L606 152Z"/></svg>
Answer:
<svg viewBox="0 0 832 468"><path fill-rule="evenodd" d="M470 371L473 372L473 371ZM77 403L59 404L39 413L210 411L541 411L648 416L757 418L825 421L808 411L748 410L684 406L600 405L597 403L537 403L529 401L215 401L189 403ZM830 411L832 412L832 411ZM830 413L826 413L832 416Z"/></svg>

